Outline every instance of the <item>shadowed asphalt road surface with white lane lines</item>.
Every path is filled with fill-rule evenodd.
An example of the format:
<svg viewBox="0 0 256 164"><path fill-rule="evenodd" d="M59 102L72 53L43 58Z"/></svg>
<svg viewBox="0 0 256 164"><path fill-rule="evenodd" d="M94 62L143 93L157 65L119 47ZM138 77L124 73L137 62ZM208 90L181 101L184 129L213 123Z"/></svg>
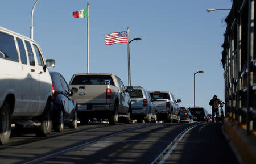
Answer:
<svg viewBox="0 0 256 164"><path fill-rule="evenodd" d="M36 138L13 129L0 163L238 163L221 123L89 124Z"/></svg>

